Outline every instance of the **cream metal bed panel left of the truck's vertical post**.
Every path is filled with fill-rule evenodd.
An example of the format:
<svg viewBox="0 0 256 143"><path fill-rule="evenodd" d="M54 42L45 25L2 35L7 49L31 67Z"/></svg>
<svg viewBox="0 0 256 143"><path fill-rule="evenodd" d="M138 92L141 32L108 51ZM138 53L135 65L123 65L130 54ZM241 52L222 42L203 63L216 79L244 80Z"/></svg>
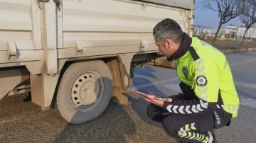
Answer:
<svg viewBox="0 0 256 143"><path fill-rule="evenodd" d="M36 1L0 0L0 51L16 41L18 50L41 49L41 10Z"/></svg>

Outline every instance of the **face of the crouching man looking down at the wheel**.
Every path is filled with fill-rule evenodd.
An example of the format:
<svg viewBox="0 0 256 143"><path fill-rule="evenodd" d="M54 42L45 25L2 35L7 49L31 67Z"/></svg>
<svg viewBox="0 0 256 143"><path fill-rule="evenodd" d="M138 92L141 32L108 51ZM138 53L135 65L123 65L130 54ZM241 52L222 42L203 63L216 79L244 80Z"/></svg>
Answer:
<svg viewBox="0 0 256 143"><path fill-rule="evenodd" d="M154 40L156 45L159 47L159 52L161 52L164 56L171 57L174 55L173 48L171 48L171 40L164 40L164 43L159 42L156 37L154 37Z"/></svg>

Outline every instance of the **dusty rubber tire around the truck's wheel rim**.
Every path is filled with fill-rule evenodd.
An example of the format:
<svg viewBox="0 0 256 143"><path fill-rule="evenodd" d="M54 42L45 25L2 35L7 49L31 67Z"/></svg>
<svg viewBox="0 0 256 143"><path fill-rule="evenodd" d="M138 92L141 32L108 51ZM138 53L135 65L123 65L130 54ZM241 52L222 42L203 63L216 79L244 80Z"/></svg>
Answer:
<svg viewBox="0 0 256 143"><path fill-rule="evenodd" d="M80 112L75 110L73 103L70 100L71 90L75 79L85 71L96 71L102 76L104 83L104 91L100 102L97 103L95 108L88 110L87 112ZM91 61L91 62L77 62L72 64L63 75L63 79L60 82L60 88L57 95L57 104L60 114L68 122L78 124L81 122L87 122L100 116L107 105L110 103L112 96L112 74L105 62Z"/></svg>

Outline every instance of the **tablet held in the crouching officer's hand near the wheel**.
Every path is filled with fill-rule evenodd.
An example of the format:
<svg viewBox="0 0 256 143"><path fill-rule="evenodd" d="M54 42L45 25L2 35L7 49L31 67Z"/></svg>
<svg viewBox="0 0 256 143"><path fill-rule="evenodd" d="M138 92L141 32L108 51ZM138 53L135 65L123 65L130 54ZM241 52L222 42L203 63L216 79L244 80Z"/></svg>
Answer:
<svg viewBox="0 0 256 143"><path fill-rule="evenodd" d="M138 90L138 89L132 89L132 91L134 93L139 94L140 96L144 96L144 97L149 98L149 99L156 99L156 100L166 101L166 102L171 102L172 101L171 98L166 98L164 96L160 96L160 95L158 95L156 93L153 93L153 92L150 92L150 91L141 91L141 90Z"/></svg>

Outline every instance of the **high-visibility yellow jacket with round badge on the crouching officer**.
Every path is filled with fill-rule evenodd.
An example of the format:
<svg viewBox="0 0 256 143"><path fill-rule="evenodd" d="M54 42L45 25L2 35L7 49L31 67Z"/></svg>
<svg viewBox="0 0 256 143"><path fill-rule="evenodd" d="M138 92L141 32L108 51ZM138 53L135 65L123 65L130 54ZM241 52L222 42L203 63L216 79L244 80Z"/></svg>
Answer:
<svg viewBox="0 0 256 143"><path fill-rule="evenodd" d="M176 59L178 79L191 86L203 102L216 103L235 118L239 98L225 55L208 43L192 38L191 47Z"/></svg>

